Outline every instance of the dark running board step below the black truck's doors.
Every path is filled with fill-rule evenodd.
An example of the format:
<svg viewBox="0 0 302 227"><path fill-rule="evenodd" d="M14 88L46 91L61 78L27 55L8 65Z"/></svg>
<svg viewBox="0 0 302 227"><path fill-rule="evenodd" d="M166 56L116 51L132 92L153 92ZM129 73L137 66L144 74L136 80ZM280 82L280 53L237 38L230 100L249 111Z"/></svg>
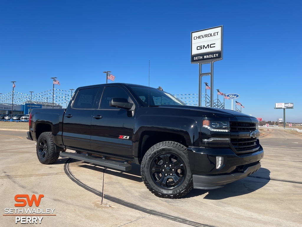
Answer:
<svg viewBox="0 0 302 227"><path fill-rule="evenodd" d="M77 159L77 160L81 160L81 161L85 161L85 162L90 162L90 163L110 167L113 169L119 169L119 170L123 170L123 171L128 171L128 170L132 169L132 166L129 165L128 163L121 163L121 162L112 161L112 160L108 160L108 159L101 158L101 157L95 158L95 157L91 157L88 155L71 153L71 152L61 152L60 156L69 157L69 158L73 158L73 159Z"/></svg>

